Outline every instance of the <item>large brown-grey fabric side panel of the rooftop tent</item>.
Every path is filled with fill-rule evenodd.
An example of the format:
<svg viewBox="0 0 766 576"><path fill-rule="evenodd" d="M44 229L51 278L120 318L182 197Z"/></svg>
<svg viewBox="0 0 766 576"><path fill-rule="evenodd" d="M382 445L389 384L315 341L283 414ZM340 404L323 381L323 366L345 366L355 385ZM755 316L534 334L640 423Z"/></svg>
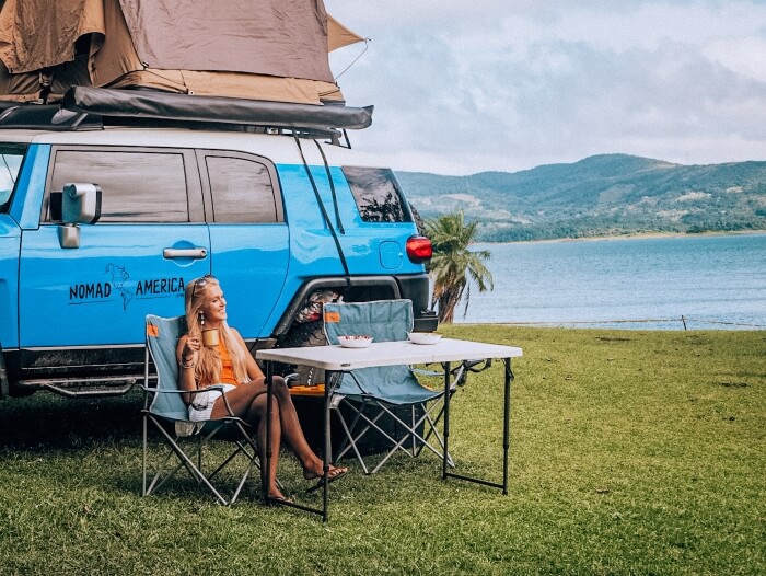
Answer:
<svg viewBox="0 0 766 576"><path fill-rule="evenodd" d="M120 0L120 4L147 68L334 81L322 0Z"/></svg>

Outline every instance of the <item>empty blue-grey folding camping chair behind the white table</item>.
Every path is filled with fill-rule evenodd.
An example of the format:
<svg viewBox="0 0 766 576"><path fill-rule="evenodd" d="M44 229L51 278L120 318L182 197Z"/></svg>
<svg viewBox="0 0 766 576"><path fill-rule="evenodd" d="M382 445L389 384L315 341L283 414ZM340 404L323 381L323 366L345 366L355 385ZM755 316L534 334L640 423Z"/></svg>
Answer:
<svg viewBox="0 0 766 576"><path fill-rule="evenodd" d="M324 326L329 344L338 344L341 335L369 335L373 342L406 341L407 333L413 330L413 303L410 300L325 303ZM465 381L463 365L456 372L451 394L457 383ZM437 430L444 410L443 399L443 387L426 388L408 366L363 368L344 373L333 391L332 407L345 434L335 460L352 450L364 473L374 474L398 451L417 457L427 448L443 458L444 443ZM385 446L382 460L372 471L368 470L359 449L360 440L368 434L380 435ZM432 437L441 450L433 446ZM448 463L454 465L449 454Z"/></svg>

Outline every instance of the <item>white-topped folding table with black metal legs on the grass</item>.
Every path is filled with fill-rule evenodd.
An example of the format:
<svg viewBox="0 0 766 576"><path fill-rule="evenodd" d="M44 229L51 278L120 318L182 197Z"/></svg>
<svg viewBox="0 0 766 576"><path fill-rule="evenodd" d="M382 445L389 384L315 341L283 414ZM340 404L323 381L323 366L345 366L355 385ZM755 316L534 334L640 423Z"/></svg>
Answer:
<svg viewBox="0 0 766 576"><path fill-rule="evenodd" d="M264 489L264 499L276 504L300 508L310 512L322 515L324 521L327 520L327 502L329 482L330 453L330 431L329 411L333 401L335 387L339 382L339 377L344 372L350 372L359 368L370 368L373 366L395 366L395 365L417 365L417 364L441 364L444 367L444 456L442 459L442 479L454 477L468 482L476 482L488 486L501 488L503 495L508 494L508 453L510 448L510 412L511 412L511 381L513 372L511 370L511 358L522 356L522 349L514 346L503 346L497 344L485 344L481 342L471 342L453 338L441 338L437 344L420 345L411 342L381 342L372 343L367 348L344 348L340 346L307 346L298 348L272 348L256 352L256 359L265 362L266 384L268 387L268 410L266 430L270 430L274 379L272 362L283 362L299 366L310 366L325 370L325 396L324 396L324 486L323 507L311 508L301 504L269 499ZM489 482L481 479L464 476L448 471L449 461L449 437L450 437L450 384L451 371L450 362L463 360L481 360L489 358L502 359L504 366L504 388L503 388L503 431L502 431L502 483ZM269 438L266 446L270 446ZM268 470L270 452L267 451L264 466Z"/></svg>

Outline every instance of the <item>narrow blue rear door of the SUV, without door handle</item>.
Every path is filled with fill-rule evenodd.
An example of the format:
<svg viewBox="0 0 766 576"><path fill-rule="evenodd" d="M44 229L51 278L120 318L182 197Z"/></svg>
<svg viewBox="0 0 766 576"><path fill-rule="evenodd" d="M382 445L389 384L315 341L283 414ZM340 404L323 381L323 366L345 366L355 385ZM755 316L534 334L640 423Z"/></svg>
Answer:
<svg viewBox="0 0 766 576"><path fill-rule="evenodd" d="M266 158L235 151L197 152L206 197L212 274L221 281L229 321L245 338L265 324L282 291L290 237L279 180Z"/></svg>

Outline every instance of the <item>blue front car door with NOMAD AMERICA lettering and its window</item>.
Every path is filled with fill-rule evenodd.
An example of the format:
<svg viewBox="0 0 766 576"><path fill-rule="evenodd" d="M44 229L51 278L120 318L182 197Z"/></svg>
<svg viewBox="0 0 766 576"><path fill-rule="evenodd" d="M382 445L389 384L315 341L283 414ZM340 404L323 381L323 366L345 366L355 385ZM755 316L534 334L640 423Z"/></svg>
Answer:
<svg viewBox="0 0 766 576"><path fill-rule="evenodd" d="M102 189L101 219L71 249L49 209L67 183ZM40 226L22 234L21 347L142 344L146 314L183 314L185 285L210 272L204 220L193 151L54 147Z"/></svg>

